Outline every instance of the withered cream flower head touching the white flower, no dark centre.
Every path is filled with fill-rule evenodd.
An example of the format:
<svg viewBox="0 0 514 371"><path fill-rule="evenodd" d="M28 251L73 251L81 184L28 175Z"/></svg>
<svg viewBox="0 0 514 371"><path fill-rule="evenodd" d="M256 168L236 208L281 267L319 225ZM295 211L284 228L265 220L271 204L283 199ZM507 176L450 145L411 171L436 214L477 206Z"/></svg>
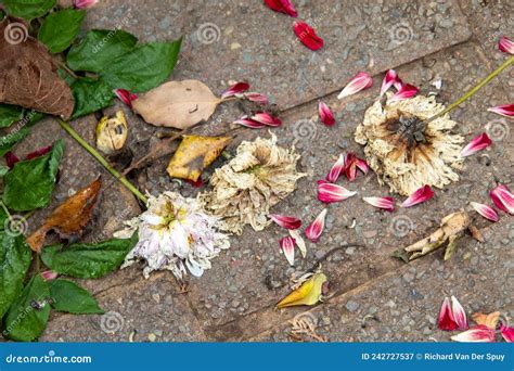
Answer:
<svg viewBox="0 0 514 371"><path fill-rule="evenodd" d="M242 142L236 155L216 169L213 191L200 197L219 217L219 228L241 234L244 225L260 231L269 225L270 207L285 199L306 174L296 170L299 154L277 145L277 137Z"/></svg>

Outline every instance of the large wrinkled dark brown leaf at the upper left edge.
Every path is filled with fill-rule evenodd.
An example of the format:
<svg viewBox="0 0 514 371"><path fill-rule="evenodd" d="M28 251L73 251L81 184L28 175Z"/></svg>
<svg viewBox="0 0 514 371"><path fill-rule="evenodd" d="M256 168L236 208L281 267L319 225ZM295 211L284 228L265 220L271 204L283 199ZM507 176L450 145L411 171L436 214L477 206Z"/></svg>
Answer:
<svg viewBox="0 0 514 371"><path fill-rule="evenodd" d="M72 90L59 77L47 48L27 36L22 20L3 20L0 35L0 102L69 119Z"/></svg>

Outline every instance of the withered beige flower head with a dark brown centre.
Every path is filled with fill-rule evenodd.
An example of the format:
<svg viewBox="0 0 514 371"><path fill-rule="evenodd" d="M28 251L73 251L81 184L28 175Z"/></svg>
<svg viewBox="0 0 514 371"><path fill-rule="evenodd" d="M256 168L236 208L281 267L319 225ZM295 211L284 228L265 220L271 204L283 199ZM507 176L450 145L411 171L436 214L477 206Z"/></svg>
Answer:
<svg viewBox="0 0 514 371"><path fill-rule="evenodd" d="M376 101L368 108L364 121L357 127L356 141L378 181L393 192L409 195L423 186L444 188L458 181L455 169L464 138L452 133L457 123L448 115L427 124L423 120L445 108L434 97L417 95L386 104Z"/></svg>

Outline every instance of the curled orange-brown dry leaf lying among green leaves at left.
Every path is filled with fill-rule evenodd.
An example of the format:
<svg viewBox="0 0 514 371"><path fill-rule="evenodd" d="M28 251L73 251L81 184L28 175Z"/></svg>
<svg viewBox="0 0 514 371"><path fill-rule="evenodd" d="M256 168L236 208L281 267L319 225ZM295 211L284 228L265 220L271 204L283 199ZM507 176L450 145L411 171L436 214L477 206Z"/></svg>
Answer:
<svg viewBox="0 0 514 371"><path fill-rule="evenodd" d="M91 219L101 186L102 182L97 179L55 208L44 223L27 239L30 248L39 253L47 233L51 230L56 231L63 239L80 235Z"/></svg>

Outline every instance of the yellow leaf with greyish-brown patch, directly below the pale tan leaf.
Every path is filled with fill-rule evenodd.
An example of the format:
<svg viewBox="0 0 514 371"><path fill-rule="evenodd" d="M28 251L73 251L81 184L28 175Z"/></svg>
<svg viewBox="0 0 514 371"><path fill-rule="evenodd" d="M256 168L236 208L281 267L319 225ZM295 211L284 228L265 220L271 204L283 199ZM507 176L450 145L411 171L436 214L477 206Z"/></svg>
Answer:
<svg viewBox="0 0 514 371"><path fill-rule="evenodd" d="M169 162L169 176L197 181L202 171L221 154L231 140L231 137L184 136Z"/></svg>

